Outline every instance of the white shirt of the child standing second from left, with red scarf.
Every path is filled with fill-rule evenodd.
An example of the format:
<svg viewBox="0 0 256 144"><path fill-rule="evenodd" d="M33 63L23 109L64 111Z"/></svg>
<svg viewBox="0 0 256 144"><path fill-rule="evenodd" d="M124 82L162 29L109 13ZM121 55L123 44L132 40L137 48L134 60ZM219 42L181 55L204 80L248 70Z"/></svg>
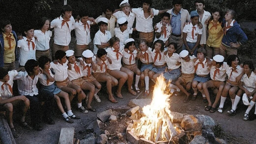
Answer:
<svg viewBox="0 0 256 144"><path fill-rule="evenodd" d="M35 48L33 50L32 42L35 44ZM24 66L27 60L29 59L36 59L36 43L35 38L32 38L32 42L28 42L26 37L23 39L18 40L19 47L19 65ZM28 47L28 43L29 47Z"/></svg>

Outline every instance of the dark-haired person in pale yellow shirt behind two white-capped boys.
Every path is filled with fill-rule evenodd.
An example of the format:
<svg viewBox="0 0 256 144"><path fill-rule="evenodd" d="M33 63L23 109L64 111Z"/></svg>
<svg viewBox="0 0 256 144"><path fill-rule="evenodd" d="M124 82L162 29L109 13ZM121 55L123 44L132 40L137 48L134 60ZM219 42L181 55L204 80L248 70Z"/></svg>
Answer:
<svg viewBox="0 0 256 144"><path fill-rule="evenodd" d="M101 21L100 18L103 18L103 17L106 18L108 20L106 22L107 23L106 30L108 30L111 33L110 37L114 36L114 29L115 29L115 23L116 23L116 18L112 15L113 12L114 12L113 6L111 4L107 4L105 6L105 9L103 9L102 15L97 17L93 22L93 24L99 25L99 22Z"/></svg>

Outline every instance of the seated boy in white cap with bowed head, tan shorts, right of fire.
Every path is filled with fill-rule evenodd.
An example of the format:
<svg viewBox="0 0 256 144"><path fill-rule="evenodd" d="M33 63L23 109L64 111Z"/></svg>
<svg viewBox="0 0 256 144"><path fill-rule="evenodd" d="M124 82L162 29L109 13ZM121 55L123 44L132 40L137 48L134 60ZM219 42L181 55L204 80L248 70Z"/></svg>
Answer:
<svg viewBox="0 0 256 144"><path fill-rule="evenodd" d="M195 77L195 67L194 67L194 55L190 56L187 50L182 50L180 52L181 58L181 76L175 82L175 85L186 94L183 102L188 102L191 99L191 94L188 91L191 89L192 81ZM185 86L186 89L183 87Z"/></svg>

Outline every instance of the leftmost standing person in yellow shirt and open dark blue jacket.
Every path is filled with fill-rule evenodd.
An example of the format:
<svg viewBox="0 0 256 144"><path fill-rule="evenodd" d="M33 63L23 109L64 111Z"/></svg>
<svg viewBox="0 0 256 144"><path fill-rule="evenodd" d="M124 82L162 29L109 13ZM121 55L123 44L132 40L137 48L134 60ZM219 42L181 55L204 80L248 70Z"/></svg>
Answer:
<svg viewBox="0 0 256 144"><path fill-rule="evenodd" d="M9 20L1 19L0 28L3 30L0 33L0 67L10 71L16 68L15 55L17 54L18 39Z"/></svg>

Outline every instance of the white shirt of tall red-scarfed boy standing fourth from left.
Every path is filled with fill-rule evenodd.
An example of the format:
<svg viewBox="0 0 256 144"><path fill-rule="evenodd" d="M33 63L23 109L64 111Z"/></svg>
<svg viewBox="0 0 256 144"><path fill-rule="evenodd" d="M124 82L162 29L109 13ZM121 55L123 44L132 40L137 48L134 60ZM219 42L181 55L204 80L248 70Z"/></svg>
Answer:
<svg viewBox="0 0 256 144"><path fill-rule="evenodd" d="M51 21L51 28L54 28L54 43L61 46L68 46L71 41L70 32L73 29L73 25L75 24L75 20L73 16L71 16L70 20L67 23L64 23L63 26L62 20L64 20L61 16L55 18Z"/></svg>

